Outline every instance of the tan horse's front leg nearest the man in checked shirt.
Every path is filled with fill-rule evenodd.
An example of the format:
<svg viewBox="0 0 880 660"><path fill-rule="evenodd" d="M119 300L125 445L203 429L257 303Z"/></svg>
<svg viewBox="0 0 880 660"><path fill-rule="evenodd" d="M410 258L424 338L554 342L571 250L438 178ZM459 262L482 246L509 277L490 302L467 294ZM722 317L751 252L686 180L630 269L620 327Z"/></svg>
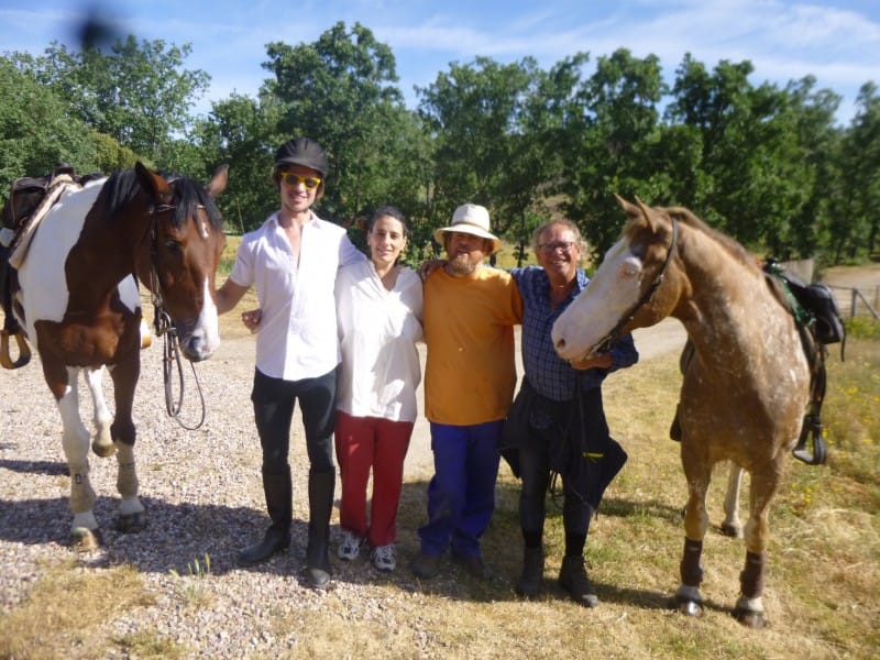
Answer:
<svg viewBox="0 0 880 660"><path fill-rule="evenodd" d="M703 613L703 596L700 593L703 582L703 538L708 528L706 492L712 466L700 452L685 443L682 443L681 455L688 479L688 505L684 509L684 552L679 564L681 584L675 592L675 601L683 614L700 616Z"/></svg>

